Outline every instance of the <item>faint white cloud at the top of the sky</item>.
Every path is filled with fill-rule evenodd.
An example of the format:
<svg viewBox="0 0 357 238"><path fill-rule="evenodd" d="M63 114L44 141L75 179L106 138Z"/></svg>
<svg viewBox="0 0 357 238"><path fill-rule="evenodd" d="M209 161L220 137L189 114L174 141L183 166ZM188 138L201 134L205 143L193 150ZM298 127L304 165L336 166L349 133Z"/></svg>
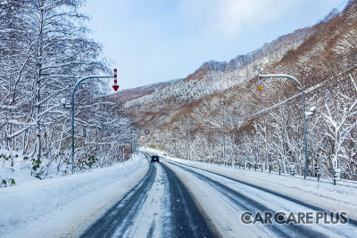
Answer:
<svg viewBox="0 0 357 238"><path fill-rule="evenodd" d="M237 38L278 19L295 1L286 0L183 0L187 27L210 37Z"/></svg>

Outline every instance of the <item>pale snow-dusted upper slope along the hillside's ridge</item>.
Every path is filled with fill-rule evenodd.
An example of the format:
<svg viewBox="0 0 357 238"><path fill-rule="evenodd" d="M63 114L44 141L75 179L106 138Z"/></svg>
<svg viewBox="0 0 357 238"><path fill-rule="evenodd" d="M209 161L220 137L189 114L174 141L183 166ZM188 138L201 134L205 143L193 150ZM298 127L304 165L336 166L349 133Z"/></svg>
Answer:
<svg viewBox="0 0 357 238"><path fill-rule="evenodd" d="M226 90L232 86L237 86L243 81L256 76L256 66L265 67L273 62L278 62L289 50L295 49L303 41L296 41L310 30L297 29L291 34L278 37L269 44L264 44L261 48L245 55L238 55L229 62L204 62L202 66L187 80L173 82L167 86L157 87L161 83L142 86L142 89L152 88L154 93L145 94L124 104L125 108L140 106L145 103L161 102L169 98L179 101L197 100L207 94L214 94ZM191 79L192 78L192 79ZM153 87L154 86L154 87Z"/></svg>

